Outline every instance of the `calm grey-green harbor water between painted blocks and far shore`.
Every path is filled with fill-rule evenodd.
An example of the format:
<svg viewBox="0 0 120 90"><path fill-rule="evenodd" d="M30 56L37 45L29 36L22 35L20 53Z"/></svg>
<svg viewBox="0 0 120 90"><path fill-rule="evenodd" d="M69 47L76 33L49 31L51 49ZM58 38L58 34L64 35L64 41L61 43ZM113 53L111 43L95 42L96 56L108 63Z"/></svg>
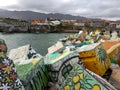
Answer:
<svg viewBox="0 0 120 90"><path fill-rule="evenodd" d="M41 55L47 54L47 49L57 42L60 38L68 35L68 33L14 33L2 34L0 38L4 39L8 46L8 53L11 49L17 48L26 44L30 44Z"/></svg>

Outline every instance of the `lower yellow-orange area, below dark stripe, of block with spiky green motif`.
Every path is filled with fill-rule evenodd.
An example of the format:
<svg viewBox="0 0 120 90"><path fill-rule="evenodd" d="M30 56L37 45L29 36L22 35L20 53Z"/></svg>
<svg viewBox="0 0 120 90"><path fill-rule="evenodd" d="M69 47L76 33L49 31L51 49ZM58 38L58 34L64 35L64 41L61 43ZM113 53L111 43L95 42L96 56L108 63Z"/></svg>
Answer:
<svg viewBox="0 0 120 90"><path fill-rule="evenodd" d="M111 62L108 58L105 62L99 60L98 57L83 58L82 62L87 69L93 71L100 76L104 75L109 66L111 65Z"/></svg>

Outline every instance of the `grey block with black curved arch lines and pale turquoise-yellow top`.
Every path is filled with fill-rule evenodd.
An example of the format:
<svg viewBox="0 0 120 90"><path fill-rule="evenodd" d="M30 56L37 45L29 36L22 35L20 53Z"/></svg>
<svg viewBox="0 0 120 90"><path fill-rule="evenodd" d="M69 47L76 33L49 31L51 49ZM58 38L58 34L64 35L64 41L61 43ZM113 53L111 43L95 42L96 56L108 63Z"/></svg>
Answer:
<svg viewBox="0 0 120 90"><path fill-rule="evenodd" d="M54 59L45 60L51 81L59 84L65 80L76 63L80 63L79 55L76 51L63 52Z"/></svg>

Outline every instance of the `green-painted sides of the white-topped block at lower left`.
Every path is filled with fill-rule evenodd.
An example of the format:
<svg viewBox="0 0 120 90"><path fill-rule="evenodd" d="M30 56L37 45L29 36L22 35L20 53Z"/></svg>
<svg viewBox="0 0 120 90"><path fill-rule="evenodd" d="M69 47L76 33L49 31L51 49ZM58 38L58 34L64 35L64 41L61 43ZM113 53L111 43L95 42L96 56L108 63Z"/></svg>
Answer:
<svg viewBox="0 0 120 90"><path fill-rule="evenodd" d="M25 90L43 90L48 85L48 71L41 58L36 64L35 60L27 64L16 64L18 76L23 82Z"/></svg>

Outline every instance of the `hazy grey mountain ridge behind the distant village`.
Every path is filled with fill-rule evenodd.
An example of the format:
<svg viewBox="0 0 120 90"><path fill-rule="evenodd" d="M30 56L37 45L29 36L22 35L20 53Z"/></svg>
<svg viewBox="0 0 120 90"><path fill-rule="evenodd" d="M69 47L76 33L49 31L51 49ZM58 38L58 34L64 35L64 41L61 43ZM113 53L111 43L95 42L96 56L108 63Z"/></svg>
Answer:
<svg viewBox="0 0 120 90"><path fill-rule="evenodd" d="M60 13L39 13L39 12L33 12L33 11L8 11L0 9L0 17L2 18L15 18L15 19L25 19L25 20L31 20L31 19L46 19L46 18L57 18L57 19L87 19L82 16L72 16L69 14L60 14Z"/></svg>

